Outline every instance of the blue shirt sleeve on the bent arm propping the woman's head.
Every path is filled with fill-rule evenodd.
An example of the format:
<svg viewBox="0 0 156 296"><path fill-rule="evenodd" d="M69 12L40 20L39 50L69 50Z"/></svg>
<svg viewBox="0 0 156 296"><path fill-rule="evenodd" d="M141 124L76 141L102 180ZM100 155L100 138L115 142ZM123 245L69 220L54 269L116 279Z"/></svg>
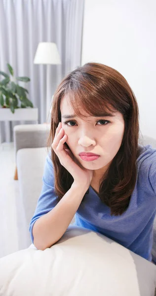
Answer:
<svg viewBox="0 0 156 296"><path fill-rule="evenodd" d="M52 161L47 155L42 177L42 189L36 206L34 216L29 225L32 243L34 244L33 226L34 223L43 215L51 211L59 202L59 198L54 192L54 171Z"/></svg>

